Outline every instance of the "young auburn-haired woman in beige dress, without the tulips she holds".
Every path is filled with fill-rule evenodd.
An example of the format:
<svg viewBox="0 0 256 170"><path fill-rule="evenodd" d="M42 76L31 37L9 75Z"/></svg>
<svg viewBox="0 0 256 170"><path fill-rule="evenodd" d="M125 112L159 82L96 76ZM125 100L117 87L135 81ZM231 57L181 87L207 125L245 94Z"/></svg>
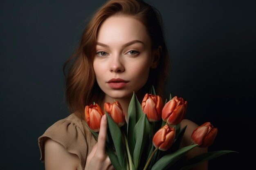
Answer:
<svg viewBox="0 0 256 170"><path fill-rule="evenodd" d="M118 100L127 111L133 91L142 99L153 85L163 99L170 70L161 15L142 0L110 0L103 4L86 26L81 44L66 62L66 97L72 112L39 137L41 161L46 170L112 170L105 151L107 121L101 119L98 142L85 126L84 109L93 102ZM188 125L182 141L191 144L197 127ZM194 148L188 159L207 148ZM197 167L207 169L207 163Z"/></svg>

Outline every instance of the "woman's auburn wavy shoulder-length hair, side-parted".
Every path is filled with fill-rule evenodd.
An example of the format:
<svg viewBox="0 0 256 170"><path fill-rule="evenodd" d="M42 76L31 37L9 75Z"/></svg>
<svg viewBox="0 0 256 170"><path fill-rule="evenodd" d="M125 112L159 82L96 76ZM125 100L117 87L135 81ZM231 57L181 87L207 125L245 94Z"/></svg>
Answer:
<svg viewBox="0 0 256 170"><path fill-rule="evenodd" d="M93 102L101 104L103 101L104 93L95 81L93 59L96 54L99 27L104 20L115 14L129 15L139 20L147 29L152 49L162 47L159 64L157 68L150 69L148 81L141 92L148 93L153 85L157 95L164 97L170 61L164 39L161 14L155 7L143 0L109 0L94 13L83 31L78 48L64 63L66 99L71 113L78 112L83 117L86 105L93 104Z"/></svg>

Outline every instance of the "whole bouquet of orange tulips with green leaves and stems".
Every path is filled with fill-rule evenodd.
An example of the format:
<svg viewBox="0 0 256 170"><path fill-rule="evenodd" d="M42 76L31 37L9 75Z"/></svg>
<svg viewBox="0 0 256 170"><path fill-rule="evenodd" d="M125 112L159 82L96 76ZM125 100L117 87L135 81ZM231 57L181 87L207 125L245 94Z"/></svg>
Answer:
<svg viewBox="0 0 256 170"><path fill-rule="evenodd" d="M180 148L186 127L180 122L186 114L187 102L177 96L165 104L161 97L146 94L140 104L135 93L128 108L128 122L118 101L104 104L105 113L98 104L85 107L86 125L97 140L103 114L108 118L106 150L116 170L188 170L203 161L234 152L219 150L186 160L186 153L195 147L208 147L217 134L210 122L196 128L191 145Z"/></svg>

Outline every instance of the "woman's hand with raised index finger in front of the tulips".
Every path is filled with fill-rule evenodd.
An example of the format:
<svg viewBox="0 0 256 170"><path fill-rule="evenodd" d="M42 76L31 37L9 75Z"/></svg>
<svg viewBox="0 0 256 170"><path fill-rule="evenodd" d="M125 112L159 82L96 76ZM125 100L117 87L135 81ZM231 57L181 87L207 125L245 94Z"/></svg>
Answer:
<svg viewBox="0 0 256 170"><path fill-rule="evenodd" d="M98 143L92 148L92 152L87 157L85 170L114 170L105 150L107 127L107 116L103 115Z"/></svg>

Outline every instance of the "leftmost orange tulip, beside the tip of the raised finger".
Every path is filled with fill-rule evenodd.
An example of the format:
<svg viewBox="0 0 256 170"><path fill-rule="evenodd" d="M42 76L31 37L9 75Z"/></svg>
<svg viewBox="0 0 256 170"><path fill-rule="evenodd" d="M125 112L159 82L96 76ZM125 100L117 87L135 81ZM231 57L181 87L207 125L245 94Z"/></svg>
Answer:
<svg viewBox="0 0 256 170"><path fill-rule="evenodd" d="M103 115L101 107L98 104L85 106L85 121L94 132L99 132L101 127L101 117Z"/></svg>

